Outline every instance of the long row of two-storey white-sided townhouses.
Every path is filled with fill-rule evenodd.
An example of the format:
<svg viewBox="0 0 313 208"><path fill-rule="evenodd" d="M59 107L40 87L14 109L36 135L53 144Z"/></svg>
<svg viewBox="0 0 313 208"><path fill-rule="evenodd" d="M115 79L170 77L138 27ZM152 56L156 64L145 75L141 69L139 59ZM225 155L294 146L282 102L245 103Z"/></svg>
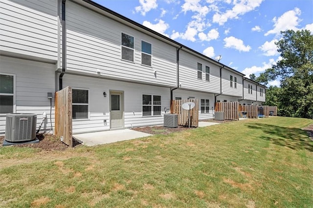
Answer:
<svg viewBox="0 0 313 208"><path fill-rule="evenodd" d="M161 125L175 99L199 99L200 120L215 102L265 102L264 85L93 1L1 0L0 13L2 134L12 112L36 113L38 125L46 112L53 129L47 93L65 86L73 133Z"/></svg>

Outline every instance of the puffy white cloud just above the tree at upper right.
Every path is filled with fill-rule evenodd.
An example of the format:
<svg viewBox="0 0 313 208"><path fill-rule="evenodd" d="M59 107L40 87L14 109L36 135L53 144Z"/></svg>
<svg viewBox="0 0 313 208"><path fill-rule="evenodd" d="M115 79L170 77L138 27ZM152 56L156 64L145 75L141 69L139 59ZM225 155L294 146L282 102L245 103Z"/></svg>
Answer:
<svg viewBox="0 0 313 208"><path fill-rule="evenodd" d="M269 34L279 34L280 31L285 30L298 30L296 26L299 25L299 22L301 21L299 19L299 16L301 15L301 10L299 8L294 8L293 10L290 10L288 12L285 12L282 16L279 18L274 17L274 28L272 30L269 30L267 33L265 33L265 36L268 36Z"/></svg>

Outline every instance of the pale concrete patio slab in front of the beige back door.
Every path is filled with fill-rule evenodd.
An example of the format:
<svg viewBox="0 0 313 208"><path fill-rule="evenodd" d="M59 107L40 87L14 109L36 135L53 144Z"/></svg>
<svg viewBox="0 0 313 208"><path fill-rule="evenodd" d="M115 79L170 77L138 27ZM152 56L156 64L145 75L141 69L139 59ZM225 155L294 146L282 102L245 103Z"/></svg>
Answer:
<svg viewBox="0 0 313 208"><path fill-rule="evenodd" d="M152 134L134 131L131 129L99 131L73 135L73 137L82 141L83 145L86 146L103 145L148 136L152 136Z"/></svg>

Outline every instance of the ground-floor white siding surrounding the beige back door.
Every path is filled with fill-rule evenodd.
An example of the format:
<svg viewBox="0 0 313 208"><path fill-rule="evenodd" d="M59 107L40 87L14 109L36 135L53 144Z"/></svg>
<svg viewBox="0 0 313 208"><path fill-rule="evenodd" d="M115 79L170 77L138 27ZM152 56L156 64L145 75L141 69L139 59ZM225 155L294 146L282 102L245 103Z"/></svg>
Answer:
<svg viewBox="0 0 313 208"><path fill-rule="evenodd" d="M170 108L168 87L70 74L63 77L64 86L78 86L78 83L80 88L89 89L89 119L73 120L73 133L110 130L110 99L109 96L104 97L103 92L107 92L107 94L110 91L123 92L125 128L163 124L163 116L142 115L143 94L161 96L161 115L164 114L165 107Z"/></svg>

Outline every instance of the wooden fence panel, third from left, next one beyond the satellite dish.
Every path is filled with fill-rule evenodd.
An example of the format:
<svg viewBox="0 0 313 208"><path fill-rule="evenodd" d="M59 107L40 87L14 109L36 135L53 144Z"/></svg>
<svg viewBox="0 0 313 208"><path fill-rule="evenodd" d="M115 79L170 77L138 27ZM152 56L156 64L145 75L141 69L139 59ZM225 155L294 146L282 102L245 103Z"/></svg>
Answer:
<svg viewBox="0 0 313 208"><path fill-rule="evenodd" d="M216 112L224 112L225 120L238 120L239 102L215 103Z"/></svg>

